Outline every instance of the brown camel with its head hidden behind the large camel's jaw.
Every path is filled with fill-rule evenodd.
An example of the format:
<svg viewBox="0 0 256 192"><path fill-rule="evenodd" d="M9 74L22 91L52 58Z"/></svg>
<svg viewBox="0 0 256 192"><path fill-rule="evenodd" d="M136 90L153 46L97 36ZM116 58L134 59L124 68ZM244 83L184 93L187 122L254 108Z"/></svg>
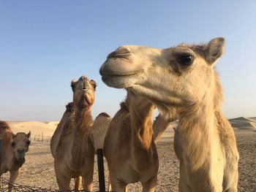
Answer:
<svg viewBox="0 0 256 192"><path fill-rule="evenodd" d="M153 111L150 101L128 91L110 122L103 150L112 191L127 191L127 184L138 181L143 191L154 191L159 163L152 133Z"/></svg>

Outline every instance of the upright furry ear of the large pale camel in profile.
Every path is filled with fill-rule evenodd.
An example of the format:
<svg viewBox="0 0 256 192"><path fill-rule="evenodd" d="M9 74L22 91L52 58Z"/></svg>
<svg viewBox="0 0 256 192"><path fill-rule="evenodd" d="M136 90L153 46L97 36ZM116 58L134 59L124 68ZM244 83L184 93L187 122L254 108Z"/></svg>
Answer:
<svg viewBox="0 0 256 192"><path fill-rule="evenodd" d="M214 64L218 58L224 53L225 39L223 37L217 37L211 39L206 45L206 61L208 64Z"/></svg>

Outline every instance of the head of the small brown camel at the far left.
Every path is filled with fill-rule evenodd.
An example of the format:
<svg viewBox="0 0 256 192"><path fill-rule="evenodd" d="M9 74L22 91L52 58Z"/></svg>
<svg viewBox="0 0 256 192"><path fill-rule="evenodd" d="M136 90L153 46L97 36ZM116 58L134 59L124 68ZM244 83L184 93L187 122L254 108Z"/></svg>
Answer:
<svg viewBox="0 0 256 192"><path fill-rule="evenodd" d="M12 134L12 147L15 153L15 158L18 161L23 161L23 159L25 158L25 153L28 152L29 150L30 135L31 135L30 131L29 131L29 134L25 134L25 133Z"/></svg>

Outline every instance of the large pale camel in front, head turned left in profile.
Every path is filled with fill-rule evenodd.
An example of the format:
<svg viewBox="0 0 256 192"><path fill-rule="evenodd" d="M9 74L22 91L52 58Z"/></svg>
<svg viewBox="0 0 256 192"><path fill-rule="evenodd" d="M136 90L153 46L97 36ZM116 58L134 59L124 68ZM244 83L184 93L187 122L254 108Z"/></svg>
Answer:
<svg viewBox="0 0 256 192"><path fill-rule="evenodd" d="M145 97L165 118L173 111L178 115L179 191L237 191L236 137L221 112L222 86L214 67L224 47L222 37L166 49L124 45L99 70L106 85Z"/></svg>

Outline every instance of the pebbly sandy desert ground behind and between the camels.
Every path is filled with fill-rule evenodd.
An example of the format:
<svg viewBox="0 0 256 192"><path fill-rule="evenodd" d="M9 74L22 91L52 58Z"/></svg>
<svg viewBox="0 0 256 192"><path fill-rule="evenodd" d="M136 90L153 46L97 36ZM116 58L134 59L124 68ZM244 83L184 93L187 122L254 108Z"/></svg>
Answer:
<svg viewBox="0 0 256 192"><path fill-rule="evenodd" d="M240 153L238 191L256 191L256 129L234 128L234 130ZM157 191L178 191L179 165L173 150L173 131L171 129L168 129L157 142L157 150L159 153ZM94 166L94 191L98 190L96 163L97 156L95 156ZM4 174L3 177L7 178L9 174ZM106 185L108 185L107 178L108 168L105 161ZM29 152L26 154L26 163L23 165L16 183L42 188L58 188L49 142L31 142ZM140 183L128 186L129 191L141 191L142 189Z"/></svg>

